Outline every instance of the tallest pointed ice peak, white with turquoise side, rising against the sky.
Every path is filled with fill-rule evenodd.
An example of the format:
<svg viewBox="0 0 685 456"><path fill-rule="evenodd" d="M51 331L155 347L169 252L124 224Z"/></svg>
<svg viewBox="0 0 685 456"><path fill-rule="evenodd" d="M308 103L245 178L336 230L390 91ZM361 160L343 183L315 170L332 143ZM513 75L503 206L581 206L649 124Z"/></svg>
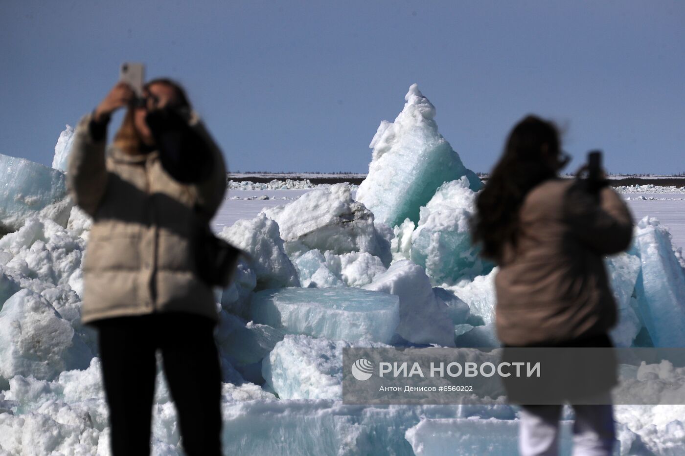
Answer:
<svg viewBox="0 0 685 456"><path fill-rule="evenodd" d="M356 199L373 212L379 223L395 227L409 218L419 221L439 186L466 176L473 190L480 179L467 169L449 142L438 133L435 107L412 84L395 123L382 121L369 147L373 149L369 174Z"/></svg>

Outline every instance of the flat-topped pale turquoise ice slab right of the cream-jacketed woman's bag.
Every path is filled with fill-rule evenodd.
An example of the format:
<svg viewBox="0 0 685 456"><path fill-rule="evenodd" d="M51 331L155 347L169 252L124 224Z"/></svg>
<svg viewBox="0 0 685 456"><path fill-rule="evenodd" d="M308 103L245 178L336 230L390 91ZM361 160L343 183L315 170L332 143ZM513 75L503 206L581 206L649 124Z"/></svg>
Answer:
<svg viewBox="0 0 685 456"><path fill-rule="evenodd" d="M359 288L282 288L252 296L251 318L287 333L388 343L399 323L399 299Z"/></svg>

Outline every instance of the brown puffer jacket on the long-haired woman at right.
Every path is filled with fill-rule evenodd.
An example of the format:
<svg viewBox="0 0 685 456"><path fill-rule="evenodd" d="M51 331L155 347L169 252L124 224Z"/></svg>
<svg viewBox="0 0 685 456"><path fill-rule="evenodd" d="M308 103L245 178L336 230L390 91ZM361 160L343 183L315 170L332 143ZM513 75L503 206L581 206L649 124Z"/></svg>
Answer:
<svg viewBox="0 0 685 456"><path fill-rule="evenodd" d="M495 277L499 340L510 346L560 343L601 335L616 322L603 255L627 249L633 222L612 188L599 201L551 179L531 190Z"/></svg>

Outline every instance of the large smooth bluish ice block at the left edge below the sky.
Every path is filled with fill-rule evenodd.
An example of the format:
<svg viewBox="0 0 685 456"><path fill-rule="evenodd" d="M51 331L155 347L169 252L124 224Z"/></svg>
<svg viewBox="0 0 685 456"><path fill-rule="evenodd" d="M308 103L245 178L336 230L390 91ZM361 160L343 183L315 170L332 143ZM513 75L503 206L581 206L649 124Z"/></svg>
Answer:
<svg viewBox="0 0 685 456"><path fill-rule="evenodd" d="M0 154L0 234L19 229L25 218L43 216L66 226L71 212L64 173Z"/></svg>

